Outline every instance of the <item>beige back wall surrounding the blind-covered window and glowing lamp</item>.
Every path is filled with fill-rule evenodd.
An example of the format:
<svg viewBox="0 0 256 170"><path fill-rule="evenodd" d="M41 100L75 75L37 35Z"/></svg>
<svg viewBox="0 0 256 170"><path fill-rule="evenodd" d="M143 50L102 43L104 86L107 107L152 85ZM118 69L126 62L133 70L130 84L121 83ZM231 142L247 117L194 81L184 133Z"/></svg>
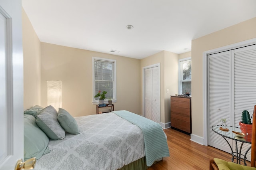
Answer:
<svg viewBox="0 0 256 170"><path fill-rule="evenodd" d="M92 105L92 57L116 60L115 110L140 114L140 60L41 43L42 106L47 105L47 80L62 81L62 108L72 116L96 114Z"/></svg>

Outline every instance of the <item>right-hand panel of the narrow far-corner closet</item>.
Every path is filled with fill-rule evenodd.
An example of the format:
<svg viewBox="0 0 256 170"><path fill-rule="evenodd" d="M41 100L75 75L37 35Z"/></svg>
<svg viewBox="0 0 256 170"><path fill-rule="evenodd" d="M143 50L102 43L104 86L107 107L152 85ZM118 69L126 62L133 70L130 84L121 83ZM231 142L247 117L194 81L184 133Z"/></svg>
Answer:
<svg viewBox="0 0 256 170"><path fill-rule="evenodd" d="M152 68L152 121L160 123L160 70Z"/></svg>

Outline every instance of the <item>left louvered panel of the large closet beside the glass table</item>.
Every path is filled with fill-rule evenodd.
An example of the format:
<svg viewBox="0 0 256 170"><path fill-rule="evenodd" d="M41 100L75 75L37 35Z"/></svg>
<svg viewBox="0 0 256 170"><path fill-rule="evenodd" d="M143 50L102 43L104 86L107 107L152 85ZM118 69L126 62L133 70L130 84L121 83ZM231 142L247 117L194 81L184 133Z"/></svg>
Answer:
<svg viewBox="0 0 256 170"><path fill-rule="evenodd" d="M227 142L222 136L212 131L212 126L221 125L219 121L221 118L226 118L227 125L230 125L231 59L231 51L208 55L208 144L229 153L231 151Z"/></svg>

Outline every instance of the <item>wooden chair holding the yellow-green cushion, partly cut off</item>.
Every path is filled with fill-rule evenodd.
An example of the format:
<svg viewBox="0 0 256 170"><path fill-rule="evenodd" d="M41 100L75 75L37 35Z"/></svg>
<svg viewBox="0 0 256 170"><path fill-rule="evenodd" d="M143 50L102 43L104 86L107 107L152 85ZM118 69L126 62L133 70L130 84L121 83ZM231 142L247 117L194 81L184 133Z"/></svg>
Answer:
<svg viewBox="0 0 256 170"><path fill-rule="evenodd" d="M238 170L242 169L239 165ZM253 116L252 116L252 154L251 154L251 167L256 167L256 105L254 106ZM219 170L217 164L213 159L210 159L210 170ZM255 168L256 170L256 168Z"/></svg>

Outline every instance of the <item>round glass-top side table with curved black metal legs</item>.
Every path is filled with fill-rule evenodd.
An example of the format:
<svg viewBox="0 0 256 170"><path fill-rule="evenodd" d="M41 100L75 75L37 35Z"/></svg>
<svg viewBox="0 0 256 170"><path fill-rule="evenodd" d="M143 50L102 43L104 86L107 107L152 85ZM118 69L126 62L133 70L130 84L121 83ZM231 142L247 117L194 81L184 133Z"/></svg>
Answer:
<svg viewBox="0 0 256 170"><path fill-rule="evenodd" d="M212 130L213 130L215 133L217 133L217 134L219 134L220 136L222 136L222 137L226 140L226 142L228 143L228 145L229 145L229 147L230 147L230 149L231 149L231 154L232 154L232 159L231 159L231 160L232 160L232 162L234 162L234 159L236 159L236 163L237 163L237 164L240 164L240 163L241 163L241 160L243 160L244 165L246 165L246 154L249 152L249 150L250 150L250 148L251 148L252 146L250 146L250 147L246 150L246 152L245 152L244 155L241 154L242 146L243 146L244 143L251 144L252 142L251 142L250 140L247 140L247 141L246 141L246 138L244 138L244 137L239 137L239 136L237 136L237 135L234 133L234 132L241 132L240 128L238 128L238 127L226 126L226 128L228 129L227 131L220 130L221 127L222 127L221 125L216 125L216 126L213 126L213 127L212 127ZM233 132L233 131L234 131L234 132ZM233 149L232 149L230 143L228 142L228 140L227 140L226 138L229 138L229 139L232 139L232 140L235 141L235 143L236 143L236 150L235 150L235 152L233 152ZM241 142L241 146L240 146L239 152L238 152L237 142ZM241 156L243 156L243 158L242 158Z"/></svg>

